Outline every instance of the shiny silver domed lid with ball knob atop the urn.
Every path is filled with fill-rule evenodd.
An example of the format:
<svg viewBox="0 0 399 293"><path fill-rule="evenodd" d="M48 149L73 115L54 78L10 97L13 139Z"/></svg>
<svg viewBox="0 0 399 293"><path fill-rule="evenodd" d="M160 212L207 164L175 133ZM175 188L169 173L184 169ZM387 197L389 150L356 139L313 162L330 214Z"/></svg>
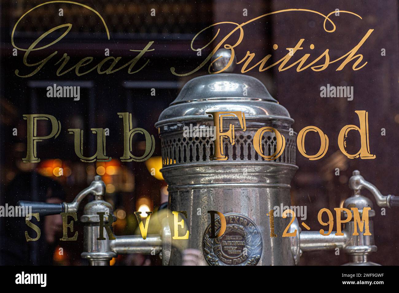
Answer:
<svg viewBox="0 0 399 293"><path fill-rule="evenodd" d="M215 55L220 55L219 51L221 50ZM223 54L213 63L216 71L223 69L230 59L226 52ZM212 118L206 112L223 111L244 112L246 119L277 119L293 122L286 108L271 96L259 79L243 74L217 73L188 81L176 100L161 113L155 126L173 122L209 120Z"/></svg>

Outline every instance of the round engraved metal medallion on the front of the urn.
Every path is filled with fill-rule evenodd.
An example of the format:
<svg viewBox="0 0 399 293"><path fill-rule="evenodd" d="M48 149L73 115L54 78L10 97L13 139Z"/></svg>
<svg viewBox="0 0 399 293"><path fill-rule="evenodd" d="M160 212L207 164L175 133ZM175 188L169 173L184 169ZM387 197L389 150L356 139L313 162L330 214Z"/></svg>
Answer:
<svg viewBox="0 0 399 293"><path fill-rule="evenodd" d="M202 250L209 265L256 265L262 254L262 236L255 223L242 214L228 213L226 231L217 238L211 237L211 224L203 234ZM215 234L221 228L220 218L215 219Z"/></svg>

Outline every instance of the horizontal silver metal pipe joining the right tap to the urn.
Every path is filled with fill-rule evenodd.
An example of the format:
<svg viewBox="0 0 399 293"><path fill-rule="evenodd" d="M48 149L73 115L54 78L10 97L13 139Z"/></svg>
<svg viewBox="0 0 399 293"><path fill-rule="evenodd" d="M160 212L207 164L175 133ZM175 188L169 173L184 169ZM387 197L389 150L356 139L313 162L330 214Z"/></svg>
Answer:
<svg viewBox="0 0 399 293"><path fill-rule="evenodd" d="M316 250L334 250L335 248L344 248L348 241L347 234L343 232L343 236L336 236L335 231L330 235L321 235L319 231L302 231L299 234L300 249L302 251Z"/></svg>

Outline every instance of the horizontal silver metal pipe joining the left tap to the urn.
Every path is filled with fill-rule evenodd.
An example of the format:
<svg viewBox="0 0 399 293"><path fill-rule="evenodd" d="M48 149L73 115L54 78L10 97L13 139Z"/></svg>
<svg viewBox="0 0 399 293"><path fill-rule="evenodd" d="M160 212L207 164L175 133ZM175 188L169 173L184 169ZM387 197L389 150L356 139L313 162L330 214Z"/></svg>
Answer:
<svg viewBox="0 0 399 293"><path fill-rule="evenodd" d="M110 248L117 254L159 254L162 251L161 236L157 234L147 235L144 240L141 235L115 236L111 240Z"/></svg>

